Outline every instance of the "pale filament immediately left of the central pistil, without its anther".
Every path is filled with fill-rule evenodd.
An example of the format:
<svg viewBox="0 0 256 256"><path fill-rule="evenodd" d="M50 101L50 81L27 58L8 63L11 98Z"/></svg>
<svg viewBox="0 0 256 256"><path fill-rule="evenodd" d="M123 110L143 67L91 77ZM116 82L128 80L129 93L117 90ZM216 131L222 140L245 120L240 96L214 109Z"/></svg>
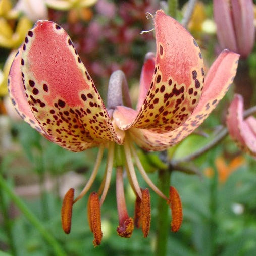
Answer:
<svg viewBox="0 0 256 256"><path fill-rule="evenodd" d="M105 180L105 185L104 189L100 198L100 206L102 206L107 192L110 187L110 180L111 180L111 174L112 174L112 168L113 168L113 160L114 160L114 149L115 149L115 143L111 142L109 144L109 153L108 153L108 159L107 159L107 173L106 173L106 180Z"/></svg>

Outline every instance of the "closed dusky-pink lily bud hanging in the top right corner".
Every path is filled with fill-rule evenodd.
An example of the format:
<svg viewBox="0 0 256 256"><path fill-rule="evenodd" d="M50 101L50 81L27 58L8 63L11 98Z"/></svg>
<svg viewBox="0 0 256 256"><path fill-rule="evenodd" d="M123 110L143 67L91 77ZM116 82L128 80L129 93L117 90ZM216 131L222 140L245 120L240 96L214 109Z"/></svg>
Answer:
<svg viewBox="0 0 256 256"><path fill-rule="evenodd" d="M214 0L213 7L221 48L246 58L254 45L253 1Z"/></svg>

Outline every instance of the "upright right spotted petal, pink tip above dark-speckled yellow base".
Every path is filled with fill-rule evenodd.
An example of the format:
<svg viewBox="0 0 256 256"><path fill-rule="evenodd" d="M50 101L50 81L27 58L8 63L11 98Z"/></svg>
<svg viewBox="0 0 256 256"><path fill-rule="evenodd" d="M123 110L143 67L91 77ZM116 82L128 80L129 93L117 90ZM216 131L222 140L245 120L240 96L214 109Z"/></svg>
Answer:
<svg viewBox="0 0 256 256"><path fill-rule="evenodd" d="M155 29L157 57L149 90L137 117L120 127L123 130L173 130L188 118L201 95L203 62L193 37L162 10L156 13Z"/></svg>

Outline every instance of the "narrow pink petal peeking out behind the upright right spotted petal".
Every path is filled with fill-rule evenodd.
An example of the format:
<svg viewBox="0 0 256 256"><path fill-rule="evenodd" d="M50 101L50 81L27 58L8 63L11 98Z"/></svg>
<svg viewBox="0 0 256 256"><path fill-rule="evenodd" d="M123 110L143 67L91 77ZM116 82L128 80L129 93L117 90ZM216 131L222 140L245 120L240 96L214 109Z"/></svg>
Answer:
<svg viewBox="0 0 256 256"><path fill-rule="evenodd" d="M156 64L156 57L153 53L147 53L142 67L139 81L139 97L137 103L137 111L140 109L147 91L149 90Z"/></svg>

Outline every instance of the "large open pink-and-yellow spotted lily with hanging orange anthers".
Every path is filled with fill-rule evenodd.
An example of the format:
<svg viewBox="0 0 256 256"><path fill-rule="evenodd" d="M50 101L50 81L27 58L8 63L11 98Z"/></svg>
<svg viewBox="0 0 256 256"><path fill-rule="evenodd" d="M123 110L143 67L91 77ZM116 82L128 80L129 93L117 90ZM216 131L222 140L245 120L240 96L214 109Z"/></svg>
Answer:
<svg viewBox="0 0 256 256"><path fill-rule="evenodd" d="M137 200L135 226L147 236L150 227L150 195L141 189L133 159L148 186L170 204L173 231L182 221L178 192L167 197L150 180L136 152L137 144L149 151L164 150L192 133L225 95L236 73L239 55L223 51L204 81L200 49L193 37L162 10L155 18L156 57L149 53L140 77L136 110L132 109L122 71L109 81L107 107L81 62L70 37L58 24L38 21L28 31L9 74L9 91L20 116L50 141L72 151L98 146L92 174L74 199L70 189L62 208L62 223L70 232L73 204L90 189L104 148L108 148L105 178L88 201L88 221L94 245L101 241L100 207L116 167L117 232L130 237L134 220L129 217L124 195L124 167Z"/></svg>

